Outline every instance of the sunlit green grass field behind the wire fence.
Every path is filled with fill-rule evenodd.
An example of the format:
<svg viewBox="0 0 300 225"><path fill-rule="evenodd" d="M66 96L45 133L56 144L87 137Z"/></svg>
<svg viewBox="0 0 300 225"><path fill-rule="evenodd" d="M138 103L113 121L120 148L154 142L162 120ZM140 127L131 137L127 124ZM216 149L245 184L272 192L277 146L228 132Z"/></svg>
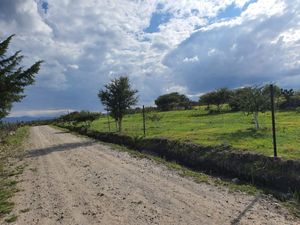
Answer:
<svg viewBox="0 0 300 225"><path fill-rule="evenodd" d="M161 119L149 119L153 114ZM202 145L231 145L238 149L251 150L265 155L273 154L271 115L259 115L261 129L255 131L252 115L242 112L228 112L209 115L203 109L148 113L146 116L146 136L166 137L181 141L191 141ZM143 135L141 114L126 115L123 120L123 133L131 136ZM111 131L116 131L110 118ZM277 112L278 156L286 159L300 159L300 113ZM91 124L91 129L108 131L107 117Z"/></svg>

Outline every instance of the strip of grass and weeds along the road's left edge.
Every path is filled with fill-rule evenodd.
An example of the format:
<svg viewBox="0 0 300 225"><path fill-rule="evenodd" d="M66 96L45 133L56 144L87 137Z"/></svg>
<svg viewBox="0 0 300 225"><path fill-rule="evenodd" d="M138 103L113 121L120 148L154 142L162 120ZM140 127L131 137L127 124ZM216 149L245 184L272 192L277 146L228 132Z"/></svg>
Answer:
<svg viewBox="0 0 300 225"><path fill-rule="evenodd" d="M1 125L0 144L0 219L8 215L14 203L11 201L18 191L16 178L22 174L25 165L20 162L24 157L24 140L28 136L28 127ZM6 222L17 219L14 214L8 215Z"/></svg>

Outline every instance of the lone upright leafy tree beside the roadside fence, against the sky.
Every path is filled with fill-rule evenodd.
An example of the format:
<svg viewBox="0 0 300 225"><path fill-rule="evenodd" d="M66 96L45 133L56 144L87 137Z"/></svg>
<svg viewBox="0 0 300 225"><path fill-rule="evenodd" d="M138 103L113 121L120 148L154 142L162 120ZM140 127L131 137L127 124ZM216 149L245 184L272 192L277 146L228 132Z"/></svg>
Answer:
<svg viewBox="0 0 300 225"><path fill-rule="evenodd" d="M126 110L137 103L137 90L131 89L128 77L119 77L111 80L100 90L98 97L118 124L119 132L122 131L122 119Z"/></svg>

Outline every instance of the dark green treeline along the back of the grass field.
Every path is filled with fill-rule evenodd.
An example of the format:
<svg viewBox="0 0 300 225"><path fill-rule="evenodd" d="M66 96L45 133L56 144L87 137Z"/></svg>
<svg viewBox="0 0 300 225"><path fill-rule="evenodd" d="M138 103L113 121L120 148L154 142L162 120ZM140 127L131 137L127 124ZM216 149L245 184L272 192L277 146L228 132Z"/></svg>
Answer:
<svg viewBox="0 0 300 225"><path fill-rule="evenodd" d="M300 107L300 91L282 89L273 85L275 105L277 109L293 110ZM207 92L199 97L199 101L191 101L187 96L173 92L159 96L155 100L157 110L169 111L175 109L191 109L195 105L204 105L211 112L222 111L222 106L229 106L231 111L243 111L245 101L261 99L264 104L270 105L270 85L262 87L252 86L237 89L219 88ZM213 109L211 106L216 106Z"/></svg>

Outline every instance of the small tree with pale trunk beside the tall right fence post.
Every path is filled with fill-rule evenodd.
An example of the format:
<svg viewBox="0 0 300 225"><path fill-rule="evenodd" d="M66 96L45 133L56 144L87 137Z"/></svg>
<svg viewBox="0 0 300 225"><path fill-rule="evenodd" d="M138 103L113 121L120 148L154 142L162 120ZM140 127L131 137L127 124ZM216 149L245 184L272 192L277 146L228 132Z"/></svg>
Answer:
<svg viewBox="0 0 300 225"><path fill-rule="evenodd" d="M240 109L253 115L255 129L259 129L258 113L270 109L270 96L263 87L246 87L240 91Z"/></svg>

